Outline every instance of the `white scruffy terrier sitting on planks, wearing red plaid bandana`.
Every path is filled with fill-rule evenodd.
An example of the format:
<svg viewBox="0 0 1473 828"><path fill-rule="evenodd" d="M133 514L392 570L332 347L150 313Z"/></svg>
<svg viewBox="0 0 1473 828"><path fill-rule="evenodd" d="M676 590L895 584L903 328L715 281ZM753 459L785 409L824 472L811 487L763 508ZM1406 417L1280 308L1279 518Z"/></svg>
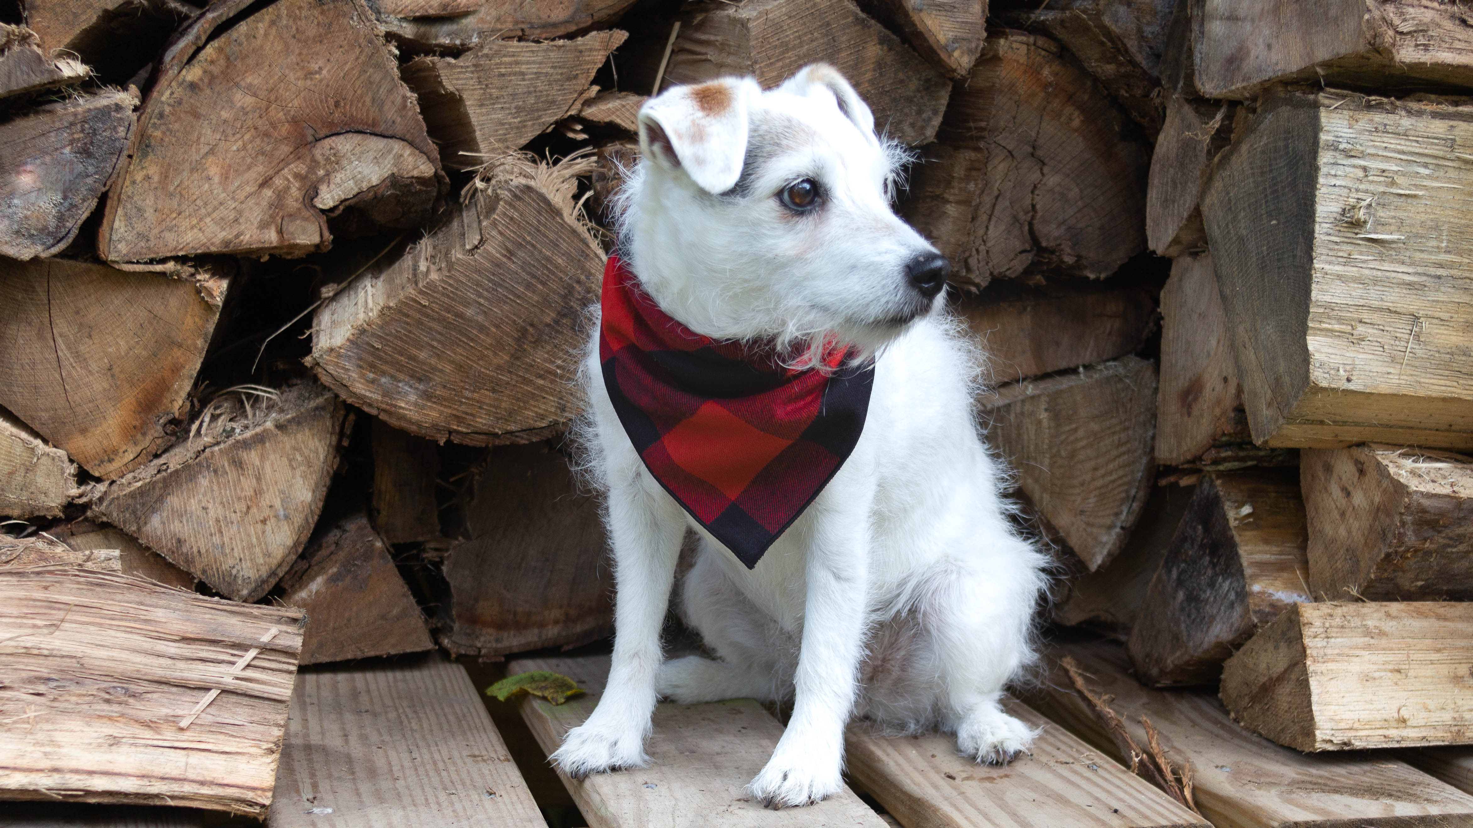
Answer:
<svg viewBox="0 0 1473 828"><path fill-rule="evenodd" d="M756 697L792 701L750 785L769 807L843 787L851 716L1009 762L1034 734L999 697L1034 659L1044 558L977 433L950 265L890 208L903 150L822 63L672 88L639 147L585 364L613 670L554 760L641 766L658 697ZM681 611L717 659L661 663L688 527Z"/></svg>

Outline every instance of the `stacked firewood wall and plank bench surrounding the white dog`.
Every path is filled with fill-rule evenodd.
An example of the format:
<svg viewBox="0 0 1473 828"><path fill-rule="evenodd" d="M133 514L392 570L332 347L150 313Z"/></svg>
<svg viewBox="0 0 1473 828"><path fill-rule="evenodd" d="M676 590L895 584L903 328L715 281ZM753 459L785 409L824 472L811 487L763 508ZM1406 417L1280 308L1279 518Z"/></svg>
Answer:
<svg viewBox="0 0 1473 828"><path fill-rule="evenodd" d="M0 3L0 825L1473 825L1469 15ZM1043 735L856 723L844 796L763 812L785 712L661 706L648 771L554 776L635 116L815 60L916 150L988 354ZM585 695L477 700L529 669Z"/></svg>

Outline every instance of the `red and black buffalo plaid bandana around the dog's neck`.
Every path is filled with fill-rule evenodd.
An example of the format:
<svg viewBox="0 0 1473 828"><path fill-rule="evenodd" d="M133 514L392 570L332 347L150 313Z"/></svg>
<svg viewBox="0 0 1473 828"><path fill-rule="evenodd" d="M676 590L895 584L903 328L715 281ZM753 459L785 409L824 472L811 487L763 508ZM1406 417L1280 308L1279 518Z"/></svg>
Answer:
<svg viewBox="0 0 1473 828"><path fill-rule="evenodd" d="M604 268L598 359L645 467L747 569L854 451L873 362L823 355L785 368L770 348L719 342L672 320L619 256Z"/></svg>

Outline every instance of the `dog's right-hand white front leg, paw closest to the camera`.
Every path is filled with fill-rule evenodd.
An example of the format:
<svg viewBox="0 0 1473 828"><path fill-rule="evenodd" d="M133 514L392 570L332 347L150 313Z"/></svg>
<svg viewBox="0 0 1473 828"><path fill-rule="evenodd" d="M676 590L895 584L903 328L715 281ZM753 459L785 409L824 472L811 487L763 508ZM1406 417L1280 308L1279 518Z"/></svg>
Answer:
<svg viewBox="0 0 1473 828"><path fill-rule="evenodd" d="M869 499L831 505L815 523L792 718L750 785L767 807L810 804L844 787L844 725L854 706L869 589Z"/></svg>

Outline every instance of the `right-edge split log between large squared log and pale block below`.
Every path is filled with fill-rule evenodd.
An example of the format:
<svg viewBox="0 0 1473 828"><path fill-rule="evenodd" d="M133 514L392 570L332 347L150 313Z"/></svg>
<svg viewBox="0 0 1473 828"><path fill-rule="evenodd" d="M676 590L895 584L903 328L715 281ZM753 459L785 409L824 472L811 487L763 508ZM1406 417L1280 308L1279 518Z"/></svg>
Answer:
<svg viewBox="0 0 1473 828"><path fill-rule="evenodd" d="M1314 595L1473 600L1473 458L1385 445L1299 457Z"/></svg>

